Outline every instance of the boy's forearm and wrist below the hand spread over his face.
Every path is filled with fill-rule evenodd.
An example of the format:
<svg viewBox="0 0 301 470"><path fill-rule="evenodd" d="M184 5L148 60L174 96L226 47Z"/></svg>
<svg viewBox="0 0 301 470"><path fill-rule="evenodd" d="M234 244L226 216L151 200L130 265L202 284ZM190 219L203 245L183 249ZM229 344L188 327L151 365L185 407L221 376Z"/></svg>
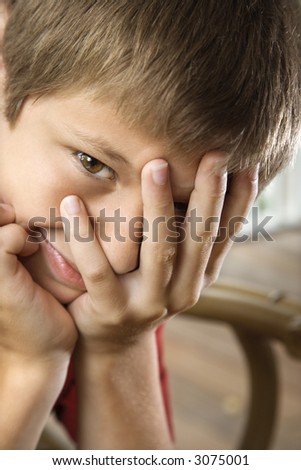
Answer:
<svg viewBox="0 0 301 470"><path fill-rule="evenodd" d="M79 448L170 448L153 331L101 353L79 347L75 365Z"/></svg>

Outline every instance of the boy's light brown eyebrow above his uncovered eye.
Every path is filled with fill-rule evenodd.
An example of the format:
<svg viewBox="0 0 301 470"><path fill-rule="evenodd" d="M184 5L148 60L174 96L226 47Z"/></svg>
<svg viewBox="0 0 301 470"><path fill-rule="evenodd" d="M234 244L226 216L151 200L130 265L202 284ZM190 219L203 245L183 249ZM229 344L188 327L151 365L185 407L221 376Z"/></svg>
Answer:
<svg viewBox="0 0 301 470"><path fill-rule="evenodd" d="M121 153L114 148L108 141L102 137L92 137L85 132L70 127L69 125L64 126L71 138L75 138L77 143L82 144L82 149L87 150L97 155L106 155L110 160L116 163L122 163L123 165L130 165L131 163ZM81 141L81 142L80 142ZM92 155L93 156L93 155Z"/></svg>

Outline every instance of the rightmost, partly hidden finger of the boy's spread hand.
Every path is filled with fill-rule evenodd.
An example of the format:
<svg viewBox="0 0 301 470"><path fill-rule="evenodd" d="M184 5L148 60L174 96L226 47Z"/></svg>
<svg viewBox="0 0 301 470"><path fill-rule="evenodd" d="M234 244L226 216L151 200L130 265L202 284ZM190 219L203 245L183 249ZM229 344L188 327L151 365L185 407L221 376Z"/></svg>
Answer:
<svg viewBox="0 0 301 470"><path fill-rule="evenodd" d="M247 222L247 216L258 194L258 166L236 174L231 179L223 208L219 235L206 268L208 283L214 281L235 236Z"/></svg>

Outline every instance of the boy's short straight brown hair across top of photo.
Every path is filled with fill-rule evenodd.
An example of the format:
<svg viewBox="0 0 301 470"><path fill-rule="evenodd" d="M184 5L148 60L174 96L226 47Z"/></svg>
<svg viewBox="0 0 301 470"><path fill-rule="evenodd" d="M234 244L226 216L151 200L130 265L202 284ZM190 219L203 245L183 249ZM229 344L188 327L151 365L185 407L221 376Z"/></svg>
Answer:
<svg viewBox="0 0 301 470"><path fill-rule="evenodd" d="M1 1L1 0L0 0ZM129 125L262 185L300 131L299 0L2 0L6 116L28 96L87 90Z"/></svg>

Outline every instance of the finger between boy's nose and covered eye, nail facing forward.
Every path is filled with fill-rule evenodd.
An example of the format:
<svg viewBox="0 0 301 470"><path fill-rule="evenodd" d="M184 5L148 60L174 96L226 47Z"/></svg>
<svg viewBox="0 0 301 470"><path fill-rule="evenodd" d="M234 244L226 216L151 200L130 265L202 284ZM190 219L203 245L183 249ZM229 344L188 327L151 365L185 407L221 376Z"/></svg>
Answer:
<svg viewBox="0 0 301 470"><path fill-rule="evenodd" d="M169 222L174 217L168 164L153 160L142 171L144 239L140 252L139 272L148 302L165 292L176 257L176 238Z"/></svg>

